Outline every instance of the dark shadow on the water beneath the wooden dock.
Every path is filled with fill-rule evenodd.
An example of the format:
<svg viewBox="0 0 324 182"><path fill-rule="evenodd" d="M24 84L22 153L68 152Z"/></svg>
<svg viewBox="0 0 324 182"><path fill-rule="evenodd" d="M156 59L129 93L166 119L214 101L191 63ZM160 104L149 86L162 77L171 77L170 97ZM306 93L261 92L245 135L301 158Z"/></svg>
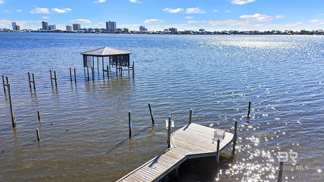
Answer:
<svg viewBox="0 0 324 182"><path fill-rule="evenodd" d="M194 182L194 181L216 181L220 170L229 169L236 162L235 156L220 153L219 165L216 166L216 158L203 157L188 159L179 166L179 172L175 170L166 175L161 182Z"/></svg>

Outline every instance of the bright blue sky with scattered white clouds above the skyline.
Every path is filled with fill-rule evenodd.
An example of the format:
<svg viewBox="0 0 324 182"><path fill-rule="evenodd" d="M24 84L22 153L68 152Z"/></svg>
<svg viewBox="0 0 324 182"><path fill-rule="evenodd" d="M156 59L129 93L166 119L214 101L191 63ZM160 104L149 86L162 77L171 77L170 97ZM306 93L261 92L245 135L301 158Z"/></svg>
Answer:
<svg viewBox="0 0 324 182"><path fill-rule="evenodd" d="M319 30L324 29L323 0L0 0L0 28L42 28L42 21L66 25L164 30Z"/></svg>

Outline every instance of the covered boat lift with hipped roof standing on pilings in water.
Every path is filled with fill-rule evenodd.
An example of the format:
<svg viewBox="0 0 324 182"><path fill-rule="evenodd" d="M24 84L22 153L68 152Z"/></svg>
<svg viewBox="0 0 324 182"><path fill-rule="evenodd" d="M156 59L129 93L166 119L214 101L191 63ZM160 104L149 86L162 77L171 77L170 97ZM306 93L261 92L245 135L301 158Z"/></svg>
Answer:
<svg viewBox="0 0 324 182"><path fill-rule="evenodd" d="M109 47L104 47L100 49L96 49L93 51L88 51L85 53L81 53L83 55L83 65L86 68L91 67L92 71L94 72L95 67L95 57L97 57L97 68L99 73L99 58L102 58L102 71L103 71L103 77L105 75L105 71L107 72L107 76L109 78L109 72L111 72L110 65L116 67L116 75L118 74L118 70L120 75L123 73L123 67L128 67L128 74L130 73L130 68L133 70L133 76L134 76L134 61L133 65L130 65L130 52L117 50ZM109 57L109 64L107 64L106 70L104 67L104 57Z"/></svg>

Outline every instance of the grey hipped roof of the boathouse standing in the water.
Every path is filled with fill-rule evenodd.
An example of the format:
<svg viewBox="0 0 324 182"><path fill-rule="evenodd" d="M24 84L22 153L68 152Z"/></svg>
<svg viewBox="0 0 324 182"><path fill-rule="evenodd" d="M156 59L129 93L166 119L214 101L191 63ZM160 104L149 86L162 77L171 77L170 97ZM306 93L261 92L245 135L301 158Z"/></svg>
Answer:
<svg viewBox="0 0 324 182"><path fill-rule="evenodd" d="M109 47L104 47L88 52L81 53L86 56L96 56L96 57L106 57L106 56L116 56L116 55L130 55L132 53L122 50L117 50Z"/></svg>

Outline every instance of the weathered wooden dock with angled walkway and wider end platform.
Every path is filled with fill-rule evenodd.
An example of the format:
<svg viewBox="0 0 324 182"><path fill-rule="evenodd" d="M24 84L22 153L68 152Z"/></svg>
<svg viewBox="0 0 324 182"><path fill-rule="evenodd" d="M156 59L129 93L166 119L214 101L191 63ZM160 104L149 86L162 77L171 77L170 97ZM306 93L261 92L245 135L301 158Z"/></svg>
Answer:
<svg viewBox="0 0 324 182"><path fill-rule="evenodd" d="M187 159L219 156L218 139L220 139L219 152L232 141L236 143L236 135L233 133L189 123L171 134L169 149L117 181L158 181Z"/></svg>

